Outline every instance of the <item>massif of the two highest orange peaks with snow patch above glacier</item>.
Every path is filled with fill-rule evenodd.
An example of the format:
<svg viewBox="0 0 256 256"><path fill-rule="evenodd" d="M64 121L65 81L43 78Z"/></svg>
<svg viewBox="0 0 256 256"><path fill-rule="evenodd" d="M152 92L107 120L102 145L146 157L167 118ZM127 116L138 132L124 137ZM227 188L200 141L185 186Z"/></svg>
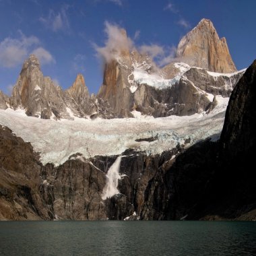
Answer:
<svg viewBox="0 0 256 256"><path fill-rule="evenodd" d="M201 20L184 36L177 59L183 63L170 63L160 70L135 49L117 53L105 64L98 96L119 117L132 117L133 110L154 117L192 115L212 110L214 96L230 96L243 74L230 74L236 67L226 40L218 37L210 20Z"/></svg>

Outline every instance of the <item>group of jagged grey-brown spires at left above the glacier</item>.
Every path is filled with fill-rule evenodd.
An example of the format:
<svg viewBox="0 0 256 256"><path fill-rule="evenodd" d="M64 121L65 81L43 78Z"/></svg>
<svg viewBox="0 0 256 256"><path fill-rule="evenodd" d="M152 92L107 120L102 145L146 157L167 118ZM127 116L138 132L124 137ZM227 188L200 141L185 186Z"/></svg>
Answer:
<svg viewBox="0 0 256 256"><path fill-rule="evenodd" d="M0 108L6 108L6 100L2 94L0 97ZM42 119L115 117L108 102L96 96L90 97L83 75L77 75L73 85L63 91L50 77L44 77L35 55L30 55L24 62L9 106L13 109L24 108L26 115Z"/></svg>

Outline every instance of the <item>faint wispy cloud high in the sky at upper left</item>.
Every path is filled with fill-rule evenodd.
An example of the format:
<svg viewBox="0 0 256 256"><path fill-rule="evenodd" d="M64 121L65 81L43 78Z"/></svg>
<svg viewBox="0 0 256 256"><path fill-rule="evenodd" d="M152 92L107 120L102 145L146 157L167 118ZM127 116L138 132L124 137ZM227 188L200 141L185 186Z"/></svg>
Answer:
<svg viewBox="0 0 256 256"><path fill-rule="evenodd" d="M60 11L57 11L57 13L51 9L48 17L40 17L39 20L46 26L46 28L53 30L53 32L59 30L69 31L70 25L69 19L67 18L67 9L67 5L61 7Z"/></svg>

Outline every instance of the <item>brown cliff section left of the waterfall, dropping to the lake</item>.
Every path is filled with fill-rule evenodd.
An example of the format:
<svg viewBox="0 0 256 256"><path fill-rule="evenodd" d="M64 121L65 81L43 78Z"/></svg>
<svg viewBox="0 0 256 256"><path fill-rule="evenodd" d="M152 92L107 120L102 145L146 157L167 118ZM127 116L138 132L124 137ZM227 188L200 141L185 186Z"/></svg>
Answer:
<svg viewBox="0 0 256 256"><path fill-rule="evenodd" d="M47 165L41 175L54 187L51 205L60 220L106 220L101 194L105 175L90 162L68 160L54 168ZM47 193L49 198L51 193Z"/></svg>

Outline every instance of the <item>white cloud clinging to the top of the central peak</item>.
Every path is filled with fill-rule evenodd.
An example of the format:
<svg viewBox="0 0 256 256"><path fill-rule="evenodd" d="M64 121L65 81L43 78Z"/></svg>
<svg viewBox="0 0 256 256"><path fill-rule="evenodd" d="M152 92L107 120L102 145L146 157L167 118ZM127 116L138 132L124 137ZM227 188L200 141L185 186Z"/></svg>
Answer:
<svg viewBox="0 0 256 256"><path fill-rule="evenodd" d="M102 57L107 63L115 59L122 52L129 51L133 46L131 38L127 37L126 31L116 24L105 22L105 29L107 40L105 46L100 47L93 44L94 49L99 57Z"/></svg>

